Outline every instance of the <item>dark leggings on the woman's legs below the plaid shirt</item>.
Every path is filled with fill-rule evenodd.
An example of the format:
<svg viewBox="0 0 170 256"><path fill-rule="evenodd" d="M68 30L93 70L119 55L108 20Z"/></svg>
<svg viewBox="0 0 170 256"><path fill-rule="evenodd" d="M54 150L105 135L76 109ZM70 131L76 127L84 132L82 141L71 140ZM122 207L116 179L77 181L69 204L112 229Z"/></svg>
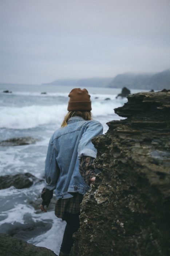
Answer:
<svg viewBox="0 0 170 256"><path fill-rule="evenodd" d="M66 212L64 220L67 222L60 251L69 254L73 245L72 235L79 229L80 220L78 213Z"/></svg>

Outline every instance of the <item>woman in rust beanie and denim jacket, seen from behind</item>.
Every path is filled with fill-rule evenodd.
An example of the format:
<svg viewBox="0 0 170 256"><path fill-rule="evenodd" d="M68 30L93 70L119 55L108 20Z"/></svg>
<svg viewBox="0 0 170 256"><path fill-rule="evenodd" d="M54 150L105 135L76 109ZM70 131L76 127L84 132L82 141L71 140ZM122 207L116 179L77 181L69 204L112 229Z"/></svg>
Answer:
<svg viewBox="0 0 170 256"><path fill-rule="evenodd" d="M91 139L102 134L103 127L91 118L91 100L86 89L73 89L68 95L68 113L60 129L50 139L45 167L45 187L41 193L41 211L46 212L56 193L55 215L67 222L59 256L67 256L72 235L79 228L80 203L95 181L92 166L96 149Z"/></svg>

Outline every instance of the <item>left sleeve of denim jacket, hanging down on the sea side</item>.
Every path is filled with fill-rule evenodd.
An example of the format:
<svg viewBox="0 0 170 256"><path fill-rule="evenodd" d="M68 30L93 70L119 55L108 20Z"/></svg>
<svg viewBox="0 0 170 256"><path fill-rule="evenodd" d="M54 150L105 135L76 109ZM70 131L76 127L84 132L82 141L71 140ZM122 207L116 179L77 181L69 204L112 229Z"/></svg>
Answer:
<svg viewBox="0 0 170 256"><path fill-rule="evenodd" d="M56 161L57 149L50 140L47 150L46 166L45 166L45 188L54 190L60 174L60 169Z"/></svg>

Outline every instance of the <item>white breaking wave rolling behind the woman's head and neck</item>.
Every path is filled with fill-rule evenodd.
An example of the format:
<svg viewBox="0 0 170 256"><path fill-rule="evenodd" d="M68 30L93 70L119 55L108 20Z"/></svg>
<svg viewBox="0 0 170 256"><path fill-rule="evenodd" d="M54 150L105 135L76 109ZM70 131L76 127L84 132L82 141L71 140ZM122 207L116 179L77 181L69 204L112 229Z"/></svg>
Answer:
<svg viewBox="0 0 170 256"><path fill-rule="evenodd" d="M122 101L126 102L126 99L92 102L93 118L114 114L113 109L122 106ZM0 112L0 128L28 129L48 123L62 123L67 113L67 105L0 107Z"/></svg>

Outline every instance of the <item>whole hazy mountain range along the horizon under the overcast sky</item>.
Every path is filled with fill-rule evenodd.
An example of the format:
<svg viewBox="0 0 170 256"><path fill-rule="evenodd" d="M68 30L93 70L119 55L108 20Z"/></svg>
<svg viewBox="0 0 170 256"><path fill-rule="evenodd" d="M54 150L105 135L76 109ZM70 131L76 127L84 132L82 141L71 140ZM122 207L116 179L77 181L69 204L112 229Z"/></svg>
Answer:
<svg viewBox="0 0 170 256"><path fill-rule="evenodd" d="M156 74L119 74L115 78L58 79L46 84L162 90L170 89L170 69Z"/></svg>

